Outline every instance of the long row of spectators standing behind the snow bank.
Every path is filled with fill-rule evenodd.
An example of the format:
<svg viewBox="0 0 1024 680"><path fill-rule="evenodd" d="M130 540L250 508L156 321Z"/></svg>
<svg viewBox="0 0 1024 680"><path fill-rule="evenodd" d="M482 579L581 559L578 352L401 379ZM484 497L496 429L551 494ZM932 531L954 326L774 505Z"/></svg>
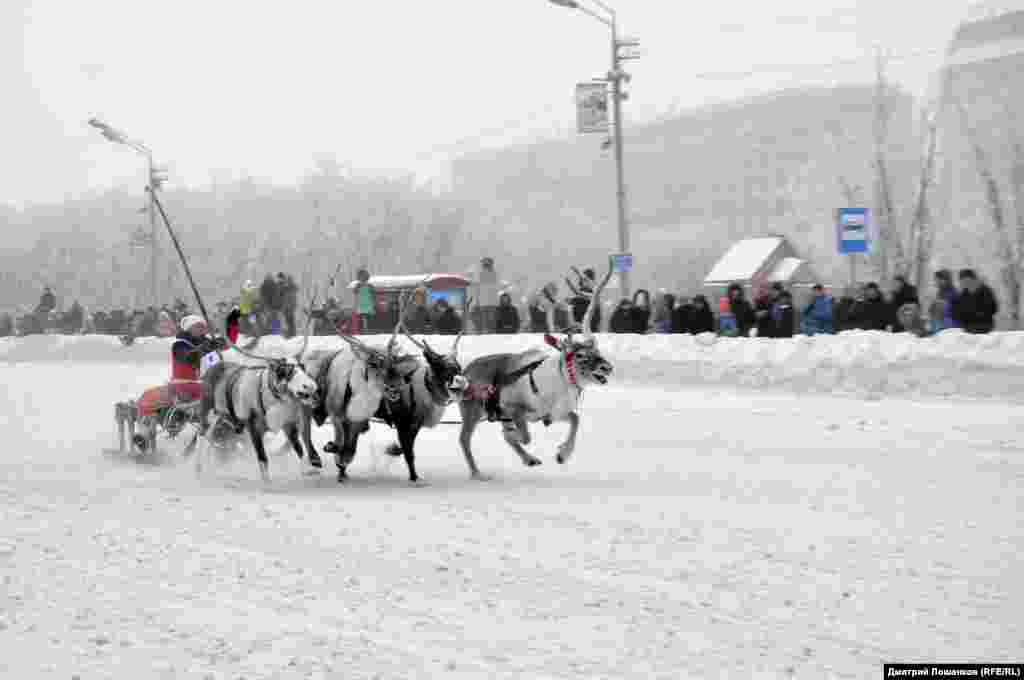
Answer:
<svg viewBox="0 0 1024 680"><path fill-rule="evenodd" d="M302 315L313 323L316 335L336 332L367 333L392 329L403 314L406 328L416 334L455 335L464 329L471 333L510 334L519 332L545 333L549 309L554 313L556 330L579 327L596 288L595 271L572 267L566 278L567 295L560 297L560 287L550 282L532 296L516 305L512 293L501 282L492 258L483 258L474 272L469 288L468 318L440 297L433 302L426 288L416 288L404 307L397 296L380 307L377 291L368 270L360 269L352 286L351 304L346 306L335 297L328 297L315 308L304 310L299 304L299 289L295 280L284 272L267 274L259 286L246 281L239 295L217 303L211 326L221 329L224 320L237 309L240 330L254 337L284 335L292 337L304 329L297 327ZM592 318L594 332L610 333L717 333L724 336L787 338L795 334L819 335L849 330L912 333L924 337L950 328L968 333L989 333L995 328L998 303L992 289L982 283L972 269L962 269L957 285L948 269L934 275L935 290L929 304L923 306L921 296L905 278L896 277L888 294L877 283L857 289L848 288L834 298L823 286L814 286L810 296L795 304L794 294L781 284L772 284L757 291L749 300L740 284L733 284L726 294L713 304L705 295L677 296L659 291L651 296L638 290L605 308L601 304ZM806 295L806 293L805 293ZM36 308L14 318L0 315L0 336L37 333L100 333L119 336L173 336L180 320L195 313L183 300L163 307L144 309L111 309L88 313L78 301L67 311L60 311L57 298L47 287ZM459 305L464 307L466 305Z"/></svg>

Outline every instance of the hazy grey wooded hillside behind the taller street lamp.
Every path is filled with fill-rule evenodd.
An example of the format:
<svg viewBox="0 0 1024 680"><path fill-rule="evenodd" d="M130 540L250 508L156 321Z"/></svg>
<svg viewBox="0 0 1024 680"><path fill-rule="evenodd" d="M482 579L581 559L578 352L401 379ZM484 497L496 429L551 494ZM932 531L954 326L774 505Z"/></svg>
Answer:
<svg viewBox="0 0 1024 680"><path fill-rule="evenodd" d="M898 91L888 99L891 171L908 204L913 102ZM834 214L847 203L841 178L870 200L873 107L870 87L807 89L629 126L637 285L694 290L731 242L769 232L790 237L823 274L845 277ZM454 190L477 210L480 248L538 277L615 250L614 165L601 140L581 135L455 162Z"/></svg>

